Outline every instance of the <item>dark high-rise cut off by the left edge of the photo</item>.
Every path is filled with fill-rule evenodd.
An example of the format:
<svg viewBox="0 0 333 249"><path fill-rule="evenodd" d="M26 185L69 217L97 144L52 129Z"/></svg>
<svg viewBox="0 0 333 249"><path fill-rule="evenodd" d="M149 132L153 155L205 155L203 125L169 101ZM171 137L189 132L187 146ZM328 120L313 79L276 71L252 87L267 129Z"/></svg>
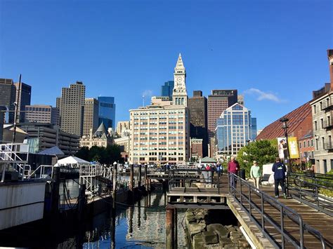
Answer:
<svg viewBox="0 0 333 249"><path fill-rule="evenodd" d="M11 111L6 114L6 122L8 123L14 122L15 94L13 79L0 79L0 106L6 107Z"/></svg>

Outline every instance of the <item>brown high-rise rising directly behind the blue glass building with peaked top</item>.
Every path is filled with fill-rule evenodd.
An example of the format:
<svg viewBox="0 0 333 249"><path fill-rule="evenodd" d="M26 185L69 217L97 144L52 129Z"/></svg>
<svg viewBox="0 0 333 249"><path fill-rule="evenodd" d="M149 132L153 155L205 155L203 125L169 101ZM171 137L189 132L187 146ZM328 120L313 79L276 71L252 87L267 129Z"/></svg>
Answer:
<svg viewBox="0 0 333 249"><path fill-rule="evenodd" d="M216 120L228 107L237 103L237 90L212 90L208 95L208 135L214 137Z"/></svg>

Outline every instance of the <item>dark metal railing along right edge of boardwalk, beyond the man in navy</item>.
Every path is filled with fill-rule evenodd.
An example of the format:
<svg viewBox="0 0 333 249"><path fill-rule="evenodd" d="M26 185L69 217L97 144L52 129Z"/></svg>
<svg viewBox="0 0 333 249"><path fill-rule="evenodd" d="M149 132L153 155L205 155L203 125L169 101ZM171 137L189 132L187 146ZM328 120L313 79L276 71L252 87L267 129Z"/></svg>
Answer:
<svg viewBox="0 0 333 249"><path fill-rule="evenodd" d="M333 198L320 194L333 193L333 175L289 173L286 187L292 198L333 217Z"/></svg>

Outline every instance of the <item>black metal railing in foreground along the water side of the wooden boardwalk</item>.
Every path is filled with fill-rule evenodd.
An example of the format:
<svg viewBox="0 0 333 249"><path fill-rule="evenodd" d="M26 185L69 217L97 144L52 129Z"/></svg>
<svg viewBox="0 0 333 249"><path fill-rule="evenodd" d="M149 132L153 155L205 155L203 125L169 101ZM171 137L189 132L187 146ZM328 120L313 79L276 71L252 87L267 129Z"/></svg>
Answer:
<svg viewBox="0 0 333 249"><path fill-rule="evenodd" d="M322 248L325 249L325 240L322 234L308 224L305 224L301 215L295 210L285 206L263 191L256 189L252 184L242 180L242 178L235 174L229 175L229 183L232 180L235 181L236 184L235 186L228 184L230 195L240 204L242 210L249 215L252 222L261 229L263 235L277 248L285 248L286 243L292 244L295 248L304 248L304 231L307 231L308 234L311 234L318 240ZM236 187L237 185L238 188ZM278 217L272 217L271 210L266 212L267 206L270 207L270 209L274 208L277 210ZM299 230L299 238L295 238L287 231L287 227L285 226L285 222L287 221L292 221L295 229L297 227L297 230ZM272 227L275 230L274 233L268 231L268 229L272 229ZM277 241L278 238L274 238L274 234L280 234L280 243Z"/></svg>

